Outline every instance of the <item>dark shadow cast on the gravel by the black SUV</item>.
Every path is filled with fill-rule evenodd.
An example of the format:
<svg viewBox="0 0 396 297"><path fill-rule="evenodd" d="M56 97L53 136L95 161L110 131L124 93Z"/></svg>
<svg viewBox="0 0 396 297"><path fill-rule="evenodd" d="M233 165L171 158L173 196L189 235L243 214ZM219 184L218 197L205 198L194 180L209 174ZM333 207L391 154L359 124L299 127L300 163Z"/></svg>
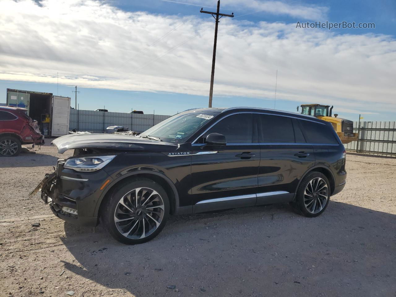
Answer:
<svg viewBox="0 0 396 297"><path fill-rule="evenodd" d="M62 262L136 296L393 296L395 231L396 215L333 201L316 218L289 204L175 216L136 246L65 223L76 262Z"/></svg>

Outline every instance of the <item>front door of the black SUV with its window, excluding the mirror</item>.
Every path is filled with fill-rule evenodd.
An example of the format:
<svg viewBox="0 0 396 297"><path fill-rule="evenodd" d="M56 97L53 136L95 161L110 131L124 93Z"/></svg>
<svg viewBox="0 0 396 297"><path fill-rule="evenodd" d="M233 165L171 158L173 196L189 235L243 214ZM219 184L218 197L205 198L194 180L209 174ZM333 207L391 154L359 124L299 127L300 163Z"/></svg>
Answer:
<svg viewBox="0 0 396 297"><path fill-rule="evenodd" d="M227 145L206 145L210 133L225 135ZM259 163L260 145L253 114L239 112L218 120L192 144L193 211L253 206Z"/></svg>

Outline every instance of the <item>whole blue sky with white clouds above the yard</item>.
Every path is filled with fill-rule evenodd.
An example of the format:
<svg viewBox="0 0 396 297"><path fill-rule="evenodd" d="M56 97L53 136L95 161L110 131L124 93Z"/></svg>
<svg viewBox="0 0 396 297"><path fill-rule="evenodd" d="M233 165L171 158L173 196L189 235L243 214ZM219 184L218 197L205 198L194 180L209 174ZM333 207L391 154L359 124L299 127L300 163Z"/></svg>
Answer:
<svg viewBox="0 0 396 297"><path fill-rule="evenodd" d="M213 106L274 108L278 70L277 109L324 103L351 120L396 120L396 2L344 2L222 0L235 17L219 24ZM0 0L0 102L6 88L73 97L77 85L80 109L206 107L215 23L199 10L216 4Z"/></svg>

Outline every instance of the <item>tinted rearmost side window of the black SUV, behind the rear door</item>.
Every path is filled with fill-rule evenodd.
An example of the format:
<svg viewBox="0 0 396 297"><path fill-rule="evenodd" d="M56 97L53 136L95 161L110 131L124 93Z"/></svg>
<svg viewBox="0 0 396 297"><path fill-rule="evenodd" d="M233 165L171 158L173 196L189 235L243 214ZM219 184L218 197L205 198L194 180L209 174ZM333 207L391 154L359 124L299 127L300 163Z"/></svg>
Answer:
<svg viewBox="0 0 396 297"><path fill-rule="evenodd" d="M307 137L307 142L338 144L338 141L334 136L334 131L332 130L333 128L328 125L306 120L299 120L299 122L305 136Z"/></svg>

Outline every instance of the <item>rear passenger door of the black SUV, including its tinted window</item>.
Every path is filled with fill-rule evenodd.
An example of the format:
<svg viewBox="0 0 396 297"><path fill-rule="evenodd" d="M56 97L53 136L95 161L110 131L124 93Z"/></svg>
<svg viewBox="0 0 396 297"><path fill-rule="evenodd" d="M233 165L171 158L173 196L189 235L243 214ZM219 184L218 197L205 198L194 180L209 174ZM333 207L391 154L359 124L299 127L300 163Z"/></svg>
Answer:
<svg viewBox="0 0 396 297"><path fill-rule="evenodd" d="M297 120L258 114L260 166L257 205L291 201L299 180L314 166L313 146L305 141Z"/></svg>

